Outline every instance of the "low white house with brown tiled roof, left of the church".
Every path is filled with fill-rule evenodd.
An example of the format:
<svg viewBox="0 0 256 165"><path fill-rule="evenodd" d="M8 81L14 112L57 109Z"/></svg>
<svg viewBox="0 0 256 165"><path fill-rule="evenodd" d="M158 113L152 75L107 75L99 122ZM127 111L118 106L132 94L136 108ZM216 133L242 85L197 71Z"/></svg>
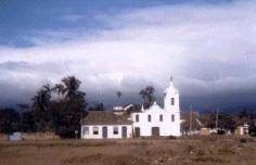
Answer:
<svg viewBox="0 0 256 165"><path fill-rule="evenodd" d="M132 122L107 111L89 111L80 120L81 139L132 138Z"/></svg>

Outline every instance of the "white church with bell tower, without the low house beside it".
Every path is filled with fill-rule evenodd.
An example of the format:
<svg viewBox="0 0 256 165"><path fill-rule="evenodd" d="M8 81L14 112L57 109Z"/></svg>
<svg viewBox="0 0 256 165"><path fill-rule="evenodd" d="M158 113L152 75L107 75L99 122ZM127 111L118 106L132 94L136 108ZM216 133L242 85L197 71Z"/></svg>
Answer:
<svg viewBox="0 0 256 165"><path fill-rule="evenodd" d="M179 90L174 87L172 78L164 92L164 109L156 102L148 110L131 113L135 137L180 136Z"/></svg>

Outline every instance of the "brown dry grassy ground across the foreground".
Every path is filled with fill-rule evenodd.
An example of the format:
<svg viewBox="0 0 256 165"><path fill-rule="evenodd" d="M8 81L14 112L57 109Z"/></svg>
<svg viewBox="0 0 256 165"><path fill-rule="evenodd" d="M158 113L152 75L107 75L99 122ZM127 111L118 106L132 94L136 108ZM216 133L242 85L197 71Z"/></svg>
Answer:
<svg viewBox="0 0 256 165"><path fill-rule="evenodd" d="M256 165L256 139L48 140L0 142L0 165Z"/></svg>

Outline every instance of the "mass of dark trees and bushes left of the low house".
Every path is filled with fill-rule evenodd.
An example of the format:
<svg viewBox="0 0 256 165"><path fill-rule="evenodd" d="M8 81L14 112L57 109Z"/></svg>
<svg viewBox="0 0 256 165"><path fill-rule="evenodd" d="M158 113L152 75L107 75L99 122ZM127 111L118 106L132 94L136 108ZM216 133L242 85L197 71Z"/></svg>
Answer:
<svg viewBox="0 0 256 165"><path fill-rule="evenodd" d="M75 76L65 77L53 88L42 86L31 98L31 107L23 114L13 109L0 111L0 132L55 131L63 138L74 138L87 107L80 84ZM53 94L59 99L52 99Z"/></svg>

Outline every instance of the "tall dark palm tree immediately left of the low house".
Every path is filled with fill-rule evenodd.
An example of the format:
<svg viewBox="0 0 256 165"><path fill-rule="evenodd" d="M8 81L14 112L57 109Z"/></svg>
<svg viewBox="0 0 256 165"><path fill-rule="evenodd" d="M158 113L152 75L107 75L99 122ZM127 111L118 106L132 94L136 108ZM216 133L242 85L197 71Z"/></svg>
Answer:
<svg viewBox="0 0 256 165"><path fill-rule="evenodd" d="M54 115L54 122L56 125L56 131L64 138L74 138L75 130L80 130L79 122L84 115L86 115L85 109L86 93L79 90L81 81L75 76L68 76L62 79L61 84L55 85L53 91L63 96L60 101L64 106L56 110Z"/></svg>

